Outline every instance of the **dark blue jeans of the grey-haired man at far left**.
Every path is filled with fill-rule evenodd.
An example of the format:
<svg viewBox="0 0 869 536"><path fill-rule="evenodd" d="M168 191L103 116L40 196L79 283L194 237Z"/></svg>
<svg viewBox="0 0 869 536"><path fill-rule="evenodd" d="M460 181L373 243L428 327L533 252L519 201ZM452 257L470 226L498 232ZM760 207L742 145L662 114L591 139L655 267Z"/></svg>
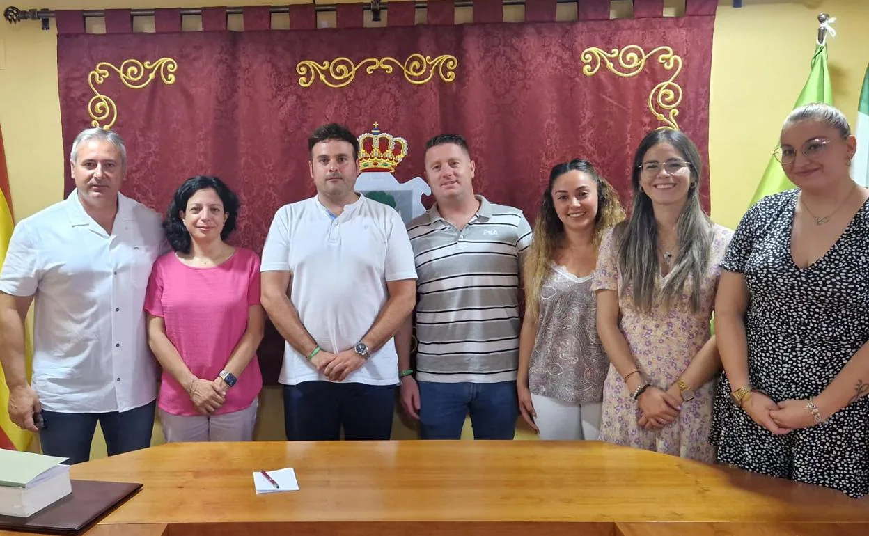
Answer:
<svg viewBox="0 0 869 536"><path fill-rule="evenodd" d="M74 464L90 460L96 421L103 428L109 456L151 446L156 401L125 412L108 414L62 414L43 410L44 427L39 431L43 454L61 456Z"/></svg>

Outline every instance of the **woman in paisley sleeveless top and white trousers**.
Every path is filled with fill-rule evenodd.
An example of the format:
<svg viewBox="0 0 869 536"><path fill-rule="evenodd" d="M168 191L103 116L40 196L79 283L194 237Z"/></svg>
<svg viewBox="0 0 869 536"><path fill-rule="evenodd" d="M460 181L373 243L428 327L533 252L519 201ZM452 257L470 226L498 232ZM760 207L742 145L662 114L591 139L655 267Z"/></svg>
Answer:
<svg viewBox="0 0 869 536"><path fill-rule="evenodd" d="M525 261L519 408L543 440L596 440L607 355L595 328L591 273L600 237L625 217L585 160L556 165Z"/></svg>

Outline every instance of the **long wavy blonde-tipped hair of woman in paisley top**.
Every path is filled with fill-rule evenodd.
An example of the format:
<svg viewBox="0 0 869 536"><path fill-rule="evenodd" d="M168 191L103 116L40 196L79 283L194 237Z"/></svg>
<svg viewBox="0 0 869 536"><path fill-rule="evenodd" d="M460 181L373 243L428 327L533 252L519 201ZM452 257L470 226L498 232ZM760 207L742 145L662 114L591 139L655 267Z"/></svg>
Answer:
<svg viewBox="0 0 869 536"><path fill-rule="evenodd" d="M619 195L613 185L601 177L591 162L574 159L554 166L549 172L549 184L543 192L541 208L534 222L534 242L525 257L525 307L532 316L539 314L540 290L551 268L555 252L564 240L564 224L555 213L552 200L552 187L555 180L568 171L581 171L591 175L597 187L598 211L594 215L594 250L600 246L607 229L625 219Z"/></svg>

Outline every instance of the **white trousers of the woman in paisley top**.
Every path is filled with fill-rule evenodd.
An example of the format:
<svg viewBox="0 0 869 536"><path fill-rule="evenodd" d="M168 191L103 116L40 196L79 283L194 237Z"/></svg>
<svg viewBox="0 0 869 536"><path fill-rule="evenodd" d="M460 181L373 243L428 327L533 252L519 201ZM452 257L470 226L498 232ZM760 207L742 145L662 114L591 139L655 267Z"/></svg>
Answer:
<svg viewBox="0 0 869 536"><path fill-rule="evenodd" d="M565 402L540 394L531 394L534 423L540 428L541 440L596 440L600 433L600 402Z"/></svg>

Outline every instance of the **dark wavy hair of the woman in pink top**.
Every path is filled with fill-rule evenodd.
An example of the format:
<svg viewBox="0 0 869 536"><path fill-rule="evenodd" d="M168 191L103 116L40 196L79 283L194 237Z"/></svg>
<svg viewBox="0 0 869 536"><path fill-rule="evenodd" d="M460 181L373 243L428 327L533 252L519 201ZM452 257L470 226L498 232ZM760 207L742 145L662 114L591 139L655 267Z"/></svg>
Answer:
<svg viewBox="0 0 869 536"><path fill-rule="evenodd" d="M166 210L166 220L163 222L166 240L169 241L169 246L176 253L190 253L190 234L184 227L179 213L182 210L187 210L187 202L190 197L199 190L209 188L217 192L218 197L223 202L223 211L228 213L226 223L223 224L223 230L220 233L221 240L226 240L235 230L235 220L238 218L238 211L242 208L242 203L238 201L238 197L217 177L206 175L190 177L172 196L172 201L169 202L169 208Z"/></svg>

